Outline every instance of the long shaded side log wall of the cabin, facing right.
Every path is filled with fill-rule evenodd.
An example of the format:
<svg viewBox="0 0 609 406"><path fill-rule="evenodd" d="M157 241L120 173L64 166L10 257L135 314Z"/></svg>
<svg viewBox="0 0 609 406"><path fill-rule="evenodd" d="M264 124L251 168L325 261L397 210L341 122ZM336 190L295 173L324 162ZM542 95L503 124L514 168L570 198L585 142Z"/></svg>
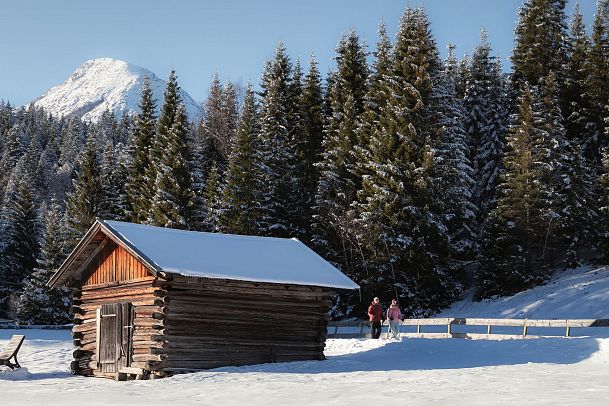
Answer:
<svg viewBox="0 0 609 406"><path fill-rule="evenodd" d="M162 345L153 349L162 373L324 359L325 289L182 276L169 283Z"/></svg>

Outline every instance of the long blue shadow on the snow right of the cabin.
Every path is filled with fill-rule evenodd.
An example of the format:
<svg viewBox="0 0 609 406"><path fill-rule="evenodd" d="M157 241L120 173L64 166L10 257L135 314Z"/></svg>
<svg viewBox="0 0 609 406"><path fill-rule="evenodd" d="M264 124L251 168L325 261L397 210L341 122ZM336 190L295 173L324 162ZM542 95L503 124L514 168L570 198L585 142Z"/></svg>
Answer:
<svg viewBox="0 0 609 406"><path fill-rule="evenodd" d="M408 339L326 361L223 367L210 372L348 373L462 369L521 364L574 364L599 350L594 339L531 340Z"/></svg>

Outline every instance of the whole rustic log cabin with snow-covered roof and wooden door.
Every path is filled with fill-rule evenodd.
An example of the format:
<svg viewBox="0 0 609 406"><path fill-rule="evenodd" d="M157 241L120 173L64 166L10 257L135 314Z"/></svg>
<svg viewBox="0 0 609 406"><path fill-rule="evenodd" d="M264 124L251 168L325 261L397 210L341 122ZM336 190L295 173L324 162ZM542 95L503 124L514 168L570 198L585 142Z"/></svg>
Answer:
<svg viewBox="0 0 609 406"><path fill-rule="evenodd" d="M72 372L156 378L323 360L337 289L358 289L296 239L98 220L48 282L73 292Z"/></svg>

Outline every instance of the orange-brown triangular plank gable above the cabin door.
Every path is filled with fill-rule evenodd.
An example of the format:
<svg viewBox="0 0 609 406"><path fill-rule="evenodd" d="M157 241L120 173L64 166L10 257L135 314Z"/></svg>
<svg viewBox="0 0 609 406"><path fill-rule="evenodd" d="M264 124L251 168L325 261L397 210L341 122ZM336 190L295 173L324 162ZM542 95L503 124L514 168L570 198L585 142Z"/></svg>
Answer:
<svg viewBox="0 0 609 406"><path fill-rule="evenodd" d="M152 276L147 267L125 248L108 241L81 274L81 286L133 281Z"/></svg>

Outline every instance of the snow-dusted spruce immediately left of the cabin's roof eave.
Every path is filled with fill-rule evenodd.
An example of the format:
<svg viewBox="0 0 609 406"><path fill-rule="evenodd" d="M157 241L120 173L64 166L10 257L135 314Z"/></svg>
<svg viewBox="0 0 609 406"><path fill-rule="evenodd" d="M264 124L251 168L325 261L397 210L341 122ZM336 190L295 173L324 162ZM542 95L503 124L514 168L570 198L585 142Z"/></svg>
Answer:
<svg viewBox="0 0 609 406"><path fill-rule="evenodd" d="M67 288L46 286L66 256L60 207L51 201L45 213L45 231L39 268L25 282L19 297L17 315L20 323L65 324L71 321L70 292Z"/></svg>

